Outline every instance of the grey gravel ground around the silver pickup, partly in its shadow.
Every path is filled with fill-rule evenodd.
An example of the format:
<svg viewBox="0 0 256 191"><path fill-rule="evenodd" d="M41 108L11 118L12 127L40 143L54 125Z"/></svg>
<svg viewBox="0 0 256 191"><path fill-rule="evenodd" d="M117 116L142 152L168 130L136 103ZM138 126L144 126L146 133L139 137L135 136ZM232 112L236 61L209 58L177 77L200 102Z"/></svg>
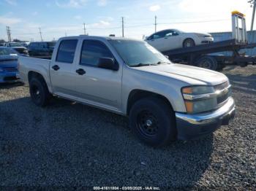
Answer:
<svg viewBox="0 0 256 191"><path fill-rule="evenodd" d="M195 141L154 149L127 118L58 99L41 109L28 87L0 86L0 185L256 189L256 66L227 68L237 114Z"/></svg>

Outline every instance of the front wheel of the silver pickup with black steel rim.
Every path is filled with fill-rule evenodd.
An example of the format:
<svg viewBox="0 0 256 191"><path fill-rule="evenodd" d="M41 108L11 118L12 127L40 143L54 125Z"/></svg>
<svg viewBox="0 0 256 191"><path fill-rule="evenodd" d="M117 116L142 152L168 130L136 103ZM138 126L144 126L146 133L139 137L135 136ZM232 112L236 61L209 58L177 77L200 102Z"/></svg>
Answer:
<svg viewBox="0 0 256 191"><path fill-rule="evenodd" d="M144 143L161 147L176 139L174 112L159 98L143 98L132 106L129 128Z"/></svg>

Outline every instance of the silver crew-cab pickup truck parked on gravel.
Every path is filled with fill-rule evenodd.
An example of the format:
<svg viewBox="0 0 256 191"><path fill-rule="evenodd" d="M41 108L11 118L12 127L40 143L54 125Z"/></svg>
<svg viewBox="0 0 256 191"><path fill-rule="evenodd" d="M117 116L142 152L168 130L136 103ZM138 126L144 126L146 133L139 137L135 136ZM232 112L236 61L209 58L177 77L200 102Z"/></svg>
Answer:
<svg viewBox="0 0 256 191"><path fill-rule="evenodd" d="M20 57L18 70L37 106L54 95L129 116L152 146L212 133L235 114L224 74L171 63L135 39L64 37L51 61Z"/></svg>

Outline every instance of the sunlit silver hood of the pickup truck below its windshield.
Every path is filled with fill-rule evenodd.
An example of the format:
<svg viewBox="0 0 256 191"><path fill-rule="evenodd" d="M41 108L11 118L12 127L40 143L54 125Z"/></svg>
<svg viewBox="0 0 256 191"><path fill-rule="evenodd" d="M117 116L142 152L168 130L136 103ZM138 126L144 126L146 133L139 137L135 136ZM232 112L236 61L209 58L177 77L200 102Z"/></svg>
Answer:
<svg viewBox="0 0 256 191"><path fill-rule="evenodd" d="M165 77L179 79L189 85L219 85L227 82L227 77L217 71L202 69L183 64L162 64L159 66L141 66L140 71L147 71Z"/></svg>

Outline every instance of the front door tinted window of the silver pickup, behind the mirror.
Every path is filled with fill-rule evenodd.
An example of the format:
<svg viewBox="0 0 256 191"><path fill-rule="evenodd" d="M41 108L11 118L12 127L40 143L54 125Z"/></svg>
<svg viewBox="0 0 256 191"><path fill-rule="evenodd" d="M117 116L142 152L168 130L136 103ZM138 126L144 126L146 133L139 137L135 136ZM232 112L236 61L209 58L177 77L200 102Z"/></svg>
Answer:
<svg viewBox="0 0 256 191"><path fill-rule="evenodd" d="M97 66L99 58L113 58L113 55L102 42L95 40L83 41L80 64Z"/></svg>

